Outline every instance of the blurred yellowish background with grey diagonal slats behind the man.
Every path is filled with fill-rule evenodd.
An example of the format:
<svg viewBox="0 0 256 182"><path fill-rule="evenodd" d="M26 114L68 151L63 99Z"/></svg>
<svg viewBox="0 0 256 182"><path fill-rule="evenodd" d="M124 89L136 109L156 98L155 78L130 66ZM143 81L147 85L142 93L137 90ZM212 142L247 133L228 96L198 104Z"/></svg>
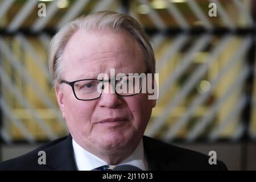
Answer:
<svg viewBox="0 0 256 182"><path fill-rule="evenodd" d="M145 135L256 170L254 0L0 0L0 161L68 134L49 42L101 10L133 16L151 37L159 99Z"/></svg>

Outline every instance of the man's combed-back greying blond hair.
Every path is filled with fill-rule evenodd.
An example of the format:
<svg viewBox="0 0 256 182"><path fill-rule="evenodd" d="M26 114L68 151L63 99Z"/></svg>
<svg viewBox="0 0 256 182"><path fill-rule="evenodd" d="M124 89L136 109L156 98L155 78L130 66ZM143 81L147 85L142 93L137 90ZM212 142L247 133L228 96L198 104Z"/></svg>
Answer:
<svg viewBox="0 0 256 182"><path fill-rule="evenodd" d="M147 72L155 73L155 55L150 44L150 39L137 20L126 14L119 14L112 11L100 11L87 16L83 15L65 24L53 37L49 46L48 67L54 85L60 81L60 75L63 71L61 56L71 36L79 29L89 32L93 30L105 30L106 28L113 31L118 31L122 28L129 32L131 37L141 46Z"/></svg>

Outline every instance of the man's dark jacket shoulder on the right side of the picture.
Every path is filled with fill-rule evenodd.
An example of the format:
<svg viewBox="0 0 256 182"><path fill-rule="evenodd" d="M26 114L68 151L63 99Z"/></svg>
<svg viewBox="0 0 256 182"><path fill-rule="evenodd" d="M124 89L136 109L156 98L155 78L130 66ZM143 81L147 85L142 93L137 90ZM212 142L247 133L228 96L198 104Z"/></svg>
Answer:
<svg viewBox="0 0 256 182"><path fill-rule="evenodd" d="M227 170L225 164L209 164L208 155L143 137L144 150L148 160L160 170Z"/></svg>

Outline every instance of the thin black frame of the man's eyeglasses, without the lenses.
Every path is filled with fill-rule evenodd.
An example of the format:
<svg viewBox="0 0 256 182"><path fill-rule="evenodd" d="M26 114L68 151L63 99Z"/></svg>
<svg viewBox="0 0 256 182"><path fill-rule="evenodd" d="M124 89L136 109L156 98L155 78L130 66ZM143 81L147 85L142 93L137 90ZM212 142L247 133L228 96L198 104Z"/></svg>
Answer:
<svg viewBox="0 0 256 182"><path fill-rule="evenodd" d="M145 73L145 74L147 74L147 73ZM130 76L130 75L125 75L125 76ZM98 96L98 97L96 97L96 98L92 98L92 99L80 99L80 98L78 98L78 97L76 96L76 92L75 92L75 83L78 82L78 81L86 81L86 80L96 80L96 81L101 81L101 82L102 82L102 90L101 90L100 96ZM76 80L76 81L71 81L71 82L66 81L66 80L61 80L61 81L60 81L60 84L65 83L65 84L70 85L70 86L72 87L73 93L74 93L74 95L75 95L75 97L76 97L77 100L80 100L80 101L92 101L92 100L96 100L96 99L98 99L98 98L101 97L101 95L102 95L102 93L103 93L103 90L104 90L104 83L105 83L105 82L110 82L110 84L111 84L111 81L113 81L113 80L115 80L115 78L110 78L109 80L82 79L82 80ZM115 90L115 88L114 88L114 90ZM141 86L141 88L139 88L139 92L138 92L138 93L131 94L131 95L127 95L127 96L123 96L123 95L121 95L121 94L118 94L116 91L115 91L115 93L116 93L118 96L129 97L129 96L134 96L134 95L137 95L137 94L141 93L141 90L142 90L142 86Z"/></svg>

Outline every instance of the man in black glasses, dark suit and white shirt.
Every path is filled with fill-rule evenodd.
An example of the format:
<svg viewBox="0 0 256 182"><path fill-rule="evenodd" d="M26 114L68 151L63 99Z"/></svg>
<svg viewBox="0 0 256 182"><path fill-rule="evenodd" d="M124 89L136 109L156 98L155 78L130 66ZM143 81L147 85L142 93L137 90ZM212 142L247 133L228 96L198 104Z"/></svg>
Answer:
<svg viewBox="0 0 256 182"><path fill-rule="evenodd" d="M122 164L142 170L226 169L220 161L210 165L199 152L143 137L156 100L142 93L141 82L139 89L126 85L129 93L115 85L127 84L129 74L155 73L148 37L130 16L101 11L68 23L51 42L49 69L70 135L3 162L0 169L109 170ZM106 79L98 78L102 73ZM46 154L45 164L38 163L39 151Z"/></svg>

